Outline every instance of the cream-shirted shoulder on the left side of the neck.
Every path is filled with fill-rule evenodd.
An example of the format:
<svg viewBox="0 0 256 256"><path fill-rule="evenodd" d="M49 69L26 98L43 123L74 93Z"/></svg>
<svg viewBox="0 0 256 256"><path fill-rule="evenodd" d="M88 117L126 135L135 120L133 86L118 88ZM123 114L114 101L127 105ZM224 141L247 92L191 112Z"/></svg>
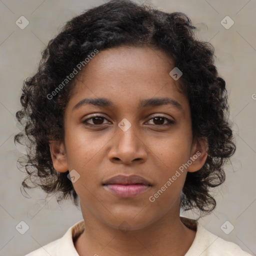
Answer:
<svg viewBox="0 0 256 256"><path fill-rule="evenodd" d="M26 254L25 256L77 256L73 240L76 239L84 229L83 219L68 228L65 234L46 245Z"/></svg>

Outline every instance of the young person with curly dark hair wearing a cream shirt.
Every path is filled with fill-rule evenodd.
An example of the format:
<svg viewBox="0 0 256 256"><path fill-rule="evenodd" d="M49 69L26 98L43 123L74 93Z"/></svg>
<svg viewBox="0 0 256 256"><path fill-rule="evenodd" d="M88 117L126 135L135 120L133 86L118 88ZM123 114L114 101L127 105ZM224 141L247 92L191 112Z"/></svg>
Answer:
<svg viewBox="0 0 256 256"><path fill-rule="evenodd" d="M79 199L83 219L28 256L249 255L179 216L214 209L209 189L235 151L225 81L194 28L184 13L112 0L49 41L16 114L27 178Z"/></svg>

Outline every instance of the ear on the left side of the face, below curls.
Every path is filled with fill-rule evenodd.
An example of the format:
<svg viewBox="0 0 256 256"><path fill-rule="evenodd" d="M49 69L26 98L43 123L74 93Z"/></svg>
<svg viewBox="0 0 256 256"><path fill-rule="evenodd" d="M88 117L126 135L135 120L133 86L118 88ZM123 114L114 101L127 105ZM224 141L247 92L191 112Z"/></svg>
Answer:
<svg viewBox="0 0 256 256"><path fill-rule="evenodd" d="M49 148L54 169L59 172L67 171L68 167L63 142L60 142L58 140L50 140Z"/></svg>

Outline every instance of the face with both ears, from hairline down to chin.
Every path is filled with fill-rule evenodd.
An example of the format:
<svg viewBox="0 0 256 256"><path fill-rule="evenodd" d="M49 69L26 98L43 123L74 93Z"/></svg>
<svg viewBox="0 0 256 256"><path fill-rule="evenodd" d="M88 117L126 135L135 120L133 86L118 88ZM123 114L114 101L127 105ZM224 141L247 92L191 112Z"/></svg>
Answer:
<svg viewBox="0 0 256 256"><path fill-rule="evenodd" d="M135 230L179 213L186 172L205 157L172 178L202 151L192 138L188 100L169 75L173 67L160 50L122 46L97 53L79 75L65 109L64 147L53 144L51 152L56 170L79 173L73 187L84 215L116 228L126 221ZM139 175L150 185L128 192L123 184L103 185L118 174Z"/></svg>

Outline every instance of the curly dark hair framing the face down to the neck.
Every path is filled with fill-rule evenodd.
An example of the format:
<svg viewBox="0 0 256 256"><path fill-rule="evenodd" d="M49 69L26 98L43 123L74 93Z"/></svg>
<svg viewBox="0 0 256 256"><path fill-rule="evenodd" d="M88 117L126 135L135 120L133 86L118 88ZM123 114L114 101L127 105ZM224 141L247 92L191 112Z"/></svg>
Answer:
<svg viewBox="0 0 256 256"><path fill-rule="evenodd" d="M189 101L192 134L208 143L202 168L186 175L180 207L210 213L216 206L210 189L224 182L222 165L234 153L235 144L227 121L225 81L214 65L214 48L195 38L195 29L183 12L168 13L130 0L111 0L67 21L42 51L37 72L23 82L22 108L16 118L24 130L14 137L14 142L27 148L21 164L28 174L23 188L31 188L26 183L29 178L47 194L60 193L58 201L69 197L78 205L68 171L54 169L49 150L50 140L63 141L63 113L75 79L54 96L52 92L95 48L149 46L165 52L182 71L178 87Z"/></svg>

